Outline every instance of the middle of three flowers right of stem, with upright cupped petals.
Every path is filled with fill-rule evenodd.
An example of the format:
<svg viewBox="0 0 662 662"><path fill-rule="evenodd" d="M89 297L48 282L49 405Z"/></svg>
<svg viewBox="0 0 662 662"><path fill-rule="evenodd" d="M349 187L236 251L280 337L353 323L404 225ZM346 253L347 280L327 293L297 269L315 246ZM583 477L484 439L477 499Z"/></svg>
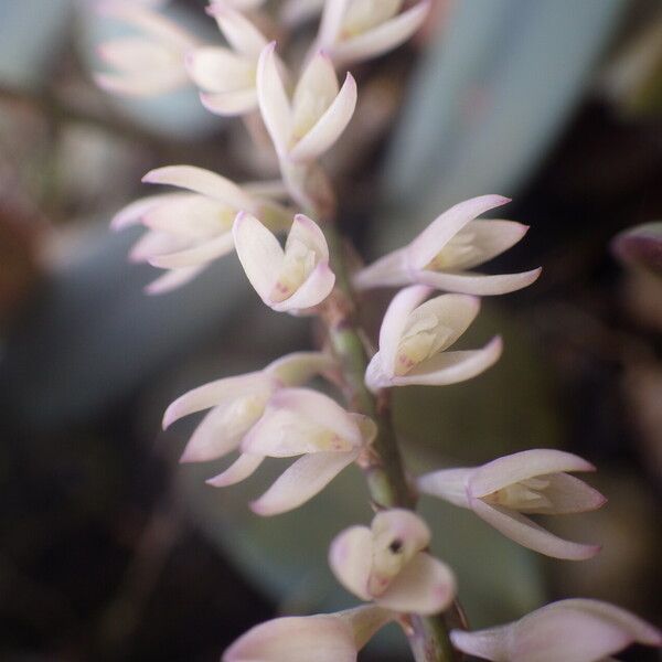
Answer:
<svg viewBox="0 0 662 662"><path fill-rule="evenodd" d="M474 320L480 300L467 295L441 295L421 303L431 291L415 285L393 298L380 330L380 351L365 371L371 391L409 384L456 384L484 372L501 355L499 337L482 350L447 352Z"/></svg>

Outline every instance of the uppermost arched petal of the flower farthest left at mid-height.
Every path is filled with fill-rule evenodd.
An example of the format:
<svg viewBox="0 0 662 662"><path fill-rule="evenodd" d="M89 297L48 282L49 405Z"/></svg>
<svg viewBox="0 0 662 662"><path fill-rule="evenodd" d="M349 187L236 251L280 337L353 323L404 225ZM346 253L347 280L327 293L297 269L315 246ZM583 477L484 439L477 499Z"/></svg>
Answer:
<svg viewBox="0 0 662 662"><path fill-rule="evenodd" d="M228 179L195 166L167 166L150 170L143 178L150 184L168 184L188 189L201 195L220 200L237 211L255 207L253 199Z"/></svg>

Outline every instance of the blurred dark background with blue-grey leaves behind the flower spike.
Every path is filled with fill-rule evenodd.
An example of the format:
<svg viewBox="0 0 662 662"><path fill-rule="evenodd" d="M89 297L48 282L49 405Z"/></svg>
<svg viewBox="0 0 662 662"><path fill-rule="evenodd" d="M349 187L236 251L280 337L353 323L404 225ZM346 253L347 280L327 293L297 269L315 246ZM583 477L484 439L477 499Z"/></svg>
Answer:
<svg viewBox="0 0 662 662"><path fill-rule="evenodd" d="M218 40L204 4L167 11ZM96 89L95 44L117 26L93 6L0 0L0 656L215 660L274 613L353 604L325 554L367 520L366 490L352 469L300 511L263 520L246 502L268 471L220 491L204 484L210 466L178 466L194 421L159 431L173 397L312 346L316 332L259 306L232 257L177 292L143 295L153 270L126 263L135 235L107 229L145 194L140 177L185 162L255 179L273 164L193 89L140 103ZM659 622L659 224L610 243L662 217L660 3L437 0L414 43L355 73L360 108L328 166L362 254L498 192L532 229L494 271L544 267L534 287L483 303L467 342L502 333L496 367L396 393L412 471L557 447L597 463L589 481L609 498L552 523L604 544L580 564L424 500L470 621L581 595ZM365 300L373 337L391 295ZM386 632L375 659L403 659L396 640Z"/></svg>

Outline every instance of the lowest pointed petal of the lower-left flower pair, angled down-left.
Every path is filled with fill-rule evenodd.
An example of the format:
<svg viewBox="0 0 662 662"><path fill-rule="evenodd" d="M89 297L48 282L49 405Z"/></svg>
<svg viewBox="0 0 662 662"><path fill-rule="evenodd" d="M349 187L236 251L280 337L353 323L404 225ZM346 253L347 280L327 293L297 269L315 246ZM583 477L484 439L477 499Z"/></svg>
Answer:
<svg viewBox="0 0 662 662"><path fill-rule="evenodd" d="M359 451L306 455L286 469L276 482L250 504L250 509L258 515L277 515L298 508L321 492L357 457Z"/></svg>

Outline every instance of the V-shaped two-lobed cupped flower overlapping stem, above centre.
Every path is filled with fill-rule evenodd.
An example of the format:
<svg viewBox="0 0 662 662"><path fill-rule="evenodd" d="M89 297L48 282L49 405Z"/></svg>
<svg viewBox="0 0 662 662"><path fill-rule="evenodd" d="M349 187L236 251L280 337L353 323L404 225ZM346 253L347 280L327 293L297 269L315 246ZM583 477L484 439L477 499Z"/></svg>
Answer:
<svg viewBox="0 0 662 662"><path fill-rule="evenodd" d="M237 256L261 300L277 311L299 313L321 303L333 289L329 247L319 226L297 214L285 244L255 216L239 213L233 226Z"/></svg>

